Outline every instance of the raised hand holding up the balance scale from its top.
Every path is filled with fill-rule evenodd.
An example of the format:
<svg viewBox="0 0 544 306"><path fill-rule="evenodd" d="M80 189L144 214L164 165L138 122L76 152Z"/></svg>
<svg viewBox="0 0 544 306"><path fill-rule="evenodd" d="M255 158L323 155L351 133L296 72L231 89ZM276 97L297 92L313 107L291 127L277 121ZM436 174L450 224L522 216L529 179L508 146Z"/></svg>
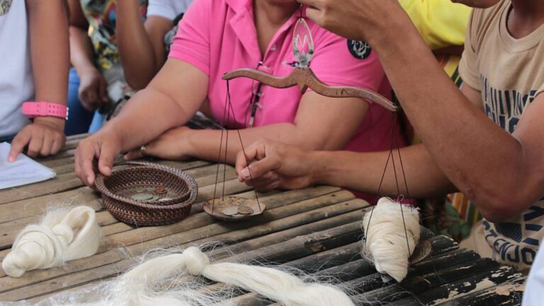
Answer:
<svg viewBox="0 0 544 306"><path fill-rule="evenodd" d="M404 14L398 0L297 0L308 6L306 15L332 33L353 40L369 40ZM402 16L402 15L401 15Z"/></svg>

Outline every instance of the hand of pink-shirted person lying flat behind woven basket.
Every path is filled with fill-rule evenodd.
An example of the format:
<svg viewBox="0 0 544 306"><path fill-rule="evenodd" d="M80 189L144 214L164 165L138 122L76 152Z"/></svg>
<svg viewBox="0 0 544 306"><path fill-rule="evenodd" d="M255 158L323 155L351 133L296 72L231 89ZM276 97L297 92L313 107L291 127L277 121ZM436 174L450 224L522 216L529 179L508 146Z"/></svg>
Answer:
<svg viewBox="0 0 544 306"><path fill-rule="evenodd" d="M191 129L186 126L174 128L164 132L156 140L145 145L145 155L162 159L183 160L191 158L188 134ZM142 158L140 148L134 149L125 155L125 160Z"/></svg>

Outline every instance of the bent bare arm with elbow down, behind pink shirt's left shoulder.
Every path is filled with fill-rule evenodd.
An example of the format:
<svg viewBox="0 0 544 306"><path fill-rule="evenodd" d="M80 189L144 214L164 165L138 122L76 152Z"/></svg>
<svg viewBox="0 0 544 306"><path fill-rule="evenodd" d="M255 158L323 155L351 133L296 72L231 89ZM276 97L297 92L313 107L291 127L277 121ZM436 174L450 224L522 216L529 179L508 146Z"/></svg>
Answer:
<svg viewBox="0 0 544 306"><path fill-rule="evenodd" d="M164 35L174 23L162 16L149 16L142 23L137 0L119 1L117 16L117 45L125 78L132 89L144 89L166 61Z"/></svg>

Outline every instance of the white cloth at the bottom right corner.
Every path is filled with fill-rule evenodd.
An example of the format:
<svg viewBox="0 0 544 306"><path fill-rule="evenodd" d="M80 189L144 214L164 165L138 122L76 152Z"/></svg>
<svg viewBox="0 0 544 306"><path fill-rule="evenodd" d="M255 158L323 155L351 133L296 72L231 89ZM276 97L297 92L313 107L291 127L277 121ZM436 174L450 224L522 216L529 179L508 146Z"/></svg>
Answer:
<svg viewBox="0 0 544 306"><path fill-rule="evenodd" d="M540 246L544 246L544 242L540 243ZM544 247L540 247L536 259L533 261L533 266L531 266L521 305L544 305Z"/></svg>

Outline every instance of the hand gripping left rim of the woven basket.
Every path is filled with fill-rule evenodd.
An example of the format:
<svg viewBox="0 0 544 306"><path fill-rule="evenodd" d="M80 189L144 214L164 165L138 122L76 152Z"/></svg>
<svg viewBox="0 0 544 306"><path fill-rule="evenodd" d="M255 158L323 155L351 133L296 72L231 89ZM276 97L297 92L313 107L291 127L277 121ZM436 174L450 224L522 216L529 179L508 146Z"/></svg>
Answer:
<svg viewBox="0 0 544 306"><path fill-rule="evenodd" d="M75 152L77 177L86 186L93 187L96 179L96 160L98 160L98 171L105 176L110 176L113 161L122 148L123 142L120 136L112 130L102 129L79 142Z"/></svg>

